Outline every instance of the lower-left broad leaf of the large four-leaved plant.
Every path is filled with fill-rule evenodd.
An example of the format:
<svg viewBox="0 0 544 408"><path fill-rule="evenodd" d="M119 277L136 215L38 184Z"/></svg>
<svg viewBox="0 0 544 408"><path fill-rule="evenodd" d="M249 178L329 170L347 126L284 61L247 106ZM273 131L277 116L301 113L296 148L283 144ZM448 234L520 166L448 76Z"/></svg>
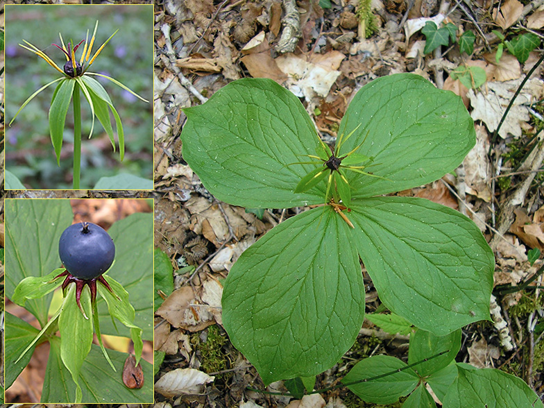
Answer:
<svg viewBox="0 0 544 408"><path fill-rule="evenodd" d="M265 384L321 373L359 333L359 257L352 229L336 215L318 207L280 223L227 275L223 325Z"/></svg>

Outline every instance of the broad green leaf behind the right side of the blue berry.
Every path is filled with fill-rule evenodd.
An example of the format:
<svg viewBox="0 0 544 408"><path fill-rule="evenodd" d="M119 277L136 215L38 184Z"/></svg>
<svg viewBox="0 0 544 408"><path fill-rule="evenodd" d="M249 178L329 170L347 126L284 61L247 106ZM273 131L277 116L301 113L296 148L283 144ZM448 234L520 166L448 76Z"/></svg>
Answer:
<svg viewBox="0 0 544 408"><path fill-rule="evenodd" d="M115 244L115 263L108 276L128 291L143 338L153 340L153 214L132 214L115 222L108 234ZM103 300L96 300L102 333L130 337L130 330L114 327Z"/></svg>

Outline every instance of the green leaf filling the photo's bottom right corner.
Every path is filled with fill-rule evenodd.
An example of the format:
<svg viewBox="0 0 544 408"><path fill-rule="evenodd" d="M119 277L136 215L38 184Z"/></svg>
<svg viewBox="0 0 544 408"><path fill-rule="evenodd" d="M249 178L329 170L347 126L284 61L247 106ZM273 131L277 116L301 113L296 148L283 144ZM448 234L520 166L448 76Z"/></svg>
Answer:
<svg viewBox="0 0 544 408"><path fill-rule="evenodd" d="M459 374L443 400L444 407L544 407L536 393L514 375L459 363L457 371Z"/></svg>

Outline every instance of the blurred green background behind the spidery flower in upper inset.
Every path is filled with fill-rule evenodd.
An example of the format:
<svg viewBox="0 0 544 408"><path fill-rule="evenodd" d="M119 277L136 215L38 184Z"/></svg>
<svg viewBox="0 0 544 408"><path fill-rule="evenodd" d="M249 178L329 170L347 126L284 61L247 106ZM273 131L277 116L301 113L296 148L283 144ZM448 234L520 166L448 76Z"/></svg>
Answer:
<svg viewBox="0 0 544 408"><path fill-rule="evenodd" d="M19 116L7 126L28 96L46 83L60 77L42 58L18 44L26 40L44 51L62 69L64 53L52 46L76 44L85 39L87 29L92 36L99 20L94 52L119 28L94 60L89 71L119 80L147 99L144 103L110 80L94 76L110 94L119 112L125 131L126 154L119 161L119 152L112 150L108 135L98 119L92 139L88 139L92 117L83 93L81 188L88 189L102 176L130 173L153 179L153 6L6 6L6 169L31 189L71 189L74 124L72 107L67 114L60 167L49 135L49 106L56 84L28 103ZM90 40L90 38L89 38ZM83 44L76 51L79 60ZM110 114L112 117L112 115ZM112 124L114 119L112 117ZM117 135L116 135L117 138Z"/></svg>

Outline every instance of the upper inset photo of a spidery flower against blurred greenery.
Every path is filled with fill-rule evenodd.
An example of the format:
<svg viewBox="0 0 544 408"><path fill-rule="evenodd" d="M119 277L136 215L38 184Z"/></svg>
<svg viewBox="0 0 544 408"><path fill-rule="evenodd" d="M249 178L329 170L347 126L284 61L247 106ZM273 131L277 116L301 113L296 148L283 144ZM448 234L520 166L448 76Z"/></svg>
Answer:
<svg viewBox="0 0 544 408"><path fill-rule="evenodd" d="M153 5L4 16L6 189L153 189Z"/></svg>

